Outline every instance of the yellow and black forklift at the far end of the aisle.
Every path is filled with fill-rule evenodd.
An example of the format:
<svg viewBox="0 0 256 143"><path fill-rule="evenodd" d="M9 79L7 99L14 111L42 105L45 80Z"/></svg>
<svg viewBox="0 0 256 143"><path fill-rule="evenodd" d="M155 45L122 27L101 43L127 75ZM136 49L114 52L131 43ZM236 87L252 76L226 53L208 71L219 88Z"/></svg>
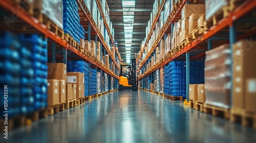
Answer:
<svg viewBox="0 0 256 143"><path fill-rule="evenodd" d="M133 91L137 91L138 90L138 77L136 77L136 59L133 58L131 59L131 63L127 64L127 63L123 63L120 64L120 75L119 75L119 86L118 86L118 90L119 91L123 91L123 90L133 90ZM125 67L129 69L129 73L126 74L123 71L123 67Z"/></svg>

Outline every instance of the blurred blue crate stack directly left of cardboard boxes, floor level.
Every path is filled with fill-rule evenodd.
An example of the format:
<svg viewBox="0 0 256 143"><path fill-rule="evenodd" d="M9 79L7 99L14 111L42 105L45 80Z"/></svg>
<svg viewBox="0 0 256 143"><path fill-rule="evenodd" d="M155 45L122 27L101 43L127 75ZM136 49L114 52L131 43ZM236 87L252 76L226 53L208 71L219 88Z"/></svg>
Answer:
<svg viewBox="0 0 256 143"><path fill-rule="evenodd" d="M29 91L24 91L23 102L26 102L28 106L26 108L23 108L23 112L31 111L30 109L30 103L34 103L34 110L42 109L47 107L47 75L48 75L48 66L47 66L47 58L48 58L48 52L47 52L47 39L44 38L42 35L38 34L21 34L19 35L20 41L23 44L23 49L25 49L22 54L25 54L25 52L30 52L31 54L26 54L26 56L23 56L24 64L23 67L28 67L27 70L23 71L22 75L26 75L25 78L22 78L24 83L23 86L28 86L29 88L32 87L33 89L33 97L29 96L27 93ZM29 56L31 56L29 58ZM32 71L30 71L31 66L30 62L28 61L32 60L33 65L33 84L31 84L31 76L33 74ZM26 63L28 61L28 63ZM31 84L31 86L29 85Z"/></svg>

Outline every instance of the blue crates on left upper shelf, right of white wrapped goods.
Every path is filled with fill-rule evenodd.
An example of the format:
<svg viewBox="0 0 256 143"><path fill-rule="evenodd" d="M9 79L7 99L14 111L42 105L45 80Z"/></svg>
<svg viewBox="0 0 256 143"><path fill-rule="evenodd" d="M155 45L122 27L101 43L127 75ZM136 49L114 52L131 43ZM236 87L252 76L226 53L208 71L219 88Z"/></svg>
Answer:
<svg viewBox="0 0 256 143"><path fill-rule="evenodd" d="M63 0L63 30L80 43L80 17L78 5L73 0Z"/></svg>

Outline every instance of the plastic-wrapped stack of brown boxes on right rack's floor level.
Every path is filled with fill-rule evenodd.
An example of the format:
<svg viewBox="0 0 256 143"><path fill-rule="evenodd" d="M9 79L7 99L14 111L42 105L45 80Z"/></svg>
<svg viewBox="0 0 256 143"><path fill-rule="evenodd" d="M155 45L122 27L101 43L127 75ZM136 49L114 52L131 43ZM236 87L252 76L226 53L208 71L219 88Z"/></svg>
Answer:
<svg viewBox="0 0 256 143"><path fill-rule="evenodd" d="M205 103L229 108L231 88L230 46L223 44L205 53Z"/></svg>

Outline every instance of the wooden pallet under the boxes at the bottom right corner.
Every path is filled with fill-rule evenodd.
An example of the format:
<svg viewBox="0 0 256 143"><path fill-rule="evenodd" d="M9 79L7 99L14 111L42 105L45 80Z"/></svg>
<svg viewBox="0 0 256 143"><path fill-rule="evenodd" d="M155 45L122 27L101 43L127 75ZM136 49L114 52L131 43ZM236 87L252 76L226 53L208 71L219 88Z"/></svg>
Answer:
<svg viewBox="0 0 256 143"><path fill-rule="evenodd" d="M256 112L247 111L243 108L232 107L230 121L241 123L243 126L251 126L256 129Z"/></svg>

